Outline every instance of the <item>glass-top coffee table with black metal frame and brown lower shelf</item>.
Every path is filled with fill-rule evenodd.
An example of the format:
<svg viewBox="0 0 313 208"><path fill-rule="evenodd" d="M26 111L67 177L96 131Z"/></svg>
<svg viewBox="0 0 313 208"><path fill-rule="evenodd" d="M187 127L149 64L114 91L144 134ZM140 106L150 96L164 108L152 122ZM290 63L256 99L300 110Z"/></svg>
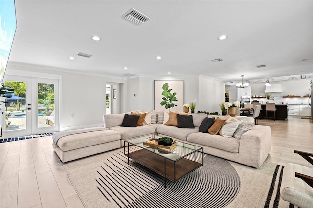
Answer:
<svg viewBox="0 0 313 208"><path fill-rule="evenodd" d="M153 138L159 138L154 136ZM146 145L146 138L124 141L124 154L129 159L156 172L166 180L176 182L203 166L203 148L177 142L171 149Z"/></svg>

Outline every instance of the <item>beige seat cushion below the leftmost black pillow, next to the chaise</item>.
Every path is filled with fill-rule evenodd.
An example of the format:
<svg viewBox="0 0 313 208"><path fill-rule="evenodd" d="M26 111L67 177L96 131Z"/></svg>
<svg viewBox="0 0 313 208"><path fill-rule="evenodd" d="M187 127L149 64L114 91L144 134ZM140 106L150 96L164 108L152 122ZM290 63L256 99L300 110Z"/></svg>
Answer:
<svg viewBox="0 0 313 208"><path fill-rule="evenodd" d="M136 128L113 126L110 129L120 132L122 140L154 134L156 132L155 128L151 125L137 126Z"/></svg>

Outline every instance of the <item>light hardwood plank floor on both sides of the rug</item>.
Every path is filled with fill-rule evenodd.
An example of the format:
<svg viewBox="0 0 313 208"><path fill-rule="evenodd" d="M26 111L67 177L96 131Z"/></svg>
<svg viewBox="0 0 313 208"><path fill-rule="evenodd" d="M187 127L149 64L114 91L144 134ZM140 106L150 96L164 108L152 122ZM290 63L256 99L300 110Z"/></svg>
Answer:
<svg viewBox="0 0 313 208"><path fill-rule="evenodd" d="M293 150L313 152L313 124L300 117L259 120L272 130L271 160L312 167ZM0 144L0 207L84 207L52 148L52 136ZM91 194L91 193L90 193Z"/></svg>

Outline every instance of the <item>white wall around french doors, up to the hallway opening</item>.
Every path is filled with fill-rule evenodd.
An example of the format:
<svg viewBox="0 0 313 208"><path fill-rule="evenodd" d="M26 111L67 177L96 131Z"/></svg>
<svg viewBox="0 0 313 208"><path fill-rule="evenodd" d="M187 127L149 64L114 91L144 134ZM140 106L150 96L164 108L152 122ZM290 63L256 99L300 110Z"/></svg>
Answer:
<svg viewBox="0 0 313 208"><path fill-rule="evenodd" d="M60 130L103 125L102 115L106 110L106 83L126 83L126 80L119 78L73 74L41 68L8 65L6 73L10 73L10 70L62 75L60 120L62 119L63 125L60 126ZM124 86L127 87L127 84ZM125 103L122 105L126 105L125 96L123 100ZM126 107L122 106L122 108ZM73 120L70 119L71 116Z"/></svg>

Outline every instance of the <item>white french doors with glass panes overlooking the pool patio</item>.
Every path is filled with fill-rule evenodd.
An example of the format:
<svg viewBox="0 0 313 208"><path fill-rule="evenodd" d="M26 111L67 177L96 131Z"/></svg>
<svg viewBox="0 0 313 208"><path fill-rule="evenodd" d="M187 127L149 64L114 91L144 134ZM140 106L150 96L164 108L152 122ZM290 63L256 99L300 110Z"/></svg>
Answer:
<svg viewBox="0 0 313 208"><path fill-rule="evenodd" d="M8 75L3 83L15 90L2 104L3 138L59 130L59 80Z"/></svg>

